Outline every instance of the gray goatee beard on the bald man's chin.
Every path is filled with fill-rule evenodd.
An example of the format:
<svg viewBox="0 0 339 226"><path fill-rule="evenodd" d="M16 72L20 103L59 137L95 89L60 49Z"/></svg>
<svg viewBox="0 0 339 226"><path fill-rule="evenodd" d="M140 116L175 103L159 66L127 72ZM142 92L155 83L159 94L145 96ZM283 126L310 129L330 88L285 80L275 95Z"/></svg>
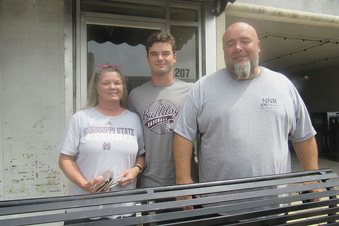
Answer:
<svg viewBox="0 0 339 226"><path fill-rule="evenodd" d="M231 73L231 75L237 79L248 79L254 73L256 72L257 66L259 63L259 57L256 57L256 59L253 60L247 60L244 63L233 63L231 65L228 65L226 62L226 65L228 66L228 70Z"/></svg>

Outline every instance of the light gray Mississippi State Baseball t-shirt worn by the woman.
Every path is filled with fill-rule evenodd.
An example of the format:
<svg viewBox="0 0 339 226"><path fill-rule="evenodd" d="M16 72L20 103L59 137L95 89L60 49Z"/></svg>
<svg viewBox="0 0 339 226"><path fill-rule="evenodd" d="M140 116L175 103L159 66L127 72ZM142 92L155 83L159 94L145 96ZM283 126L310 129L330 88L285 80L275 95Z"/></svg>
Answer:
<svg viewBox="0 0 339 226"><path fill-rule="evenodd" d="M94 107L78 111L68 123L59 151L76 156L75 162L82 176L90 181L110 171L116 178L124 170L135 166L137 156L143 154L144 141L141 121L137 114L125 110L117 117L107 117ZM134 189L136 180L126 186L120 184L109 191ZM71 182L68 195L89 194ZM134 205L134 203L116 206ZM97 206L71 211L109 208L112 205ZM118 216L110 216L116 218Z"/></svg>

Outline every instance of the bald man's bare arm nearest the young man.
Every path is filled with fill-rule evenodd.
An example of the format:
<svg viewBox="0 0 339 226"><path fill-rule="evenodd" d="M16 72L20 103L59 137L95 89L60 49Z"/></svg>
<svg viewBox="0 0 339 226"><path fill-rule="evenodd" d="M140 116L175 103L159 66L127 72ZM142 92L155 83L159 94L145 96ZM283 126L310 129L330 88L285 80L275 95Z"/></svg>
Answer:
<svg viewBox="0 0 339 226"><path fill-rule="evenodd" d="M175 133L173 140L173 157L175 164L176 184L193 183L191 178L191 156L193 143L185 137ZM199 198L200 196L195 196ZM177 200L192 199L192 196L177 197ZM184 210L193 210L193 206L183 207Z"/></svg>

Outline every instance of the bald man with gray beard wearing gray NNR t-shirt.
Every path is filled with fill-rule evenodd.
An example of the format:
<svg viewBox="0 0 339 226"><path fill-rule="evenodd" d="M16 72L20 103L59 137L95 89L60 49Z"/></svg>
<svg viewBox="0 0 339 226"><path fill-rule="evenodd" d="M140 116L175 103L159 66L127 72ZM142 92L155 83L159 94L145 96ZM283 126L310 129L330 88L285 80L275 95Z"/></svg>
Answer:
<svg viewBox="0 0 339 226"><path fill-rule="evenodd" d="M254 28L232 24L222 41L226 68L196 82L172 126L176 183L193 182L190 156L198 133L200 182L291 172L289 140L304 170L318 169L316 132L304 102L288 78L258 66Z"/></svg>

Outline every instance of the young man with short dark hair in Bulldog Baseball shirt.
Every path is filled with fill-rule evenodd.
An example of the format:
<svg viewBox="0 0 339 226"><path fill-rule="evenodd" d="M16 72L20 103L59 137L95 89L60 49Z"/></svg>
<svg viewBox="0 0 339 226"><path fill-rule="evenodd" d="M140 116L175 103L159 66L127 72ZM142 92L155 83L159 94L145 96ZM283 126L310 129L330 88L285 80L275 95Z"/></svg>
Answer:
<svg viewBox="0 0 339 226"><path fill-rule="evenodd" d="M152 34L147 39L146 51L152 79L132 90L128 97L128 108L139 114L144 131L146 159L140 187L174 185L171 126L193 83L173 78L177 56L172 35ZM192 173L198 178L197 166L194 167Z"/></svg>

